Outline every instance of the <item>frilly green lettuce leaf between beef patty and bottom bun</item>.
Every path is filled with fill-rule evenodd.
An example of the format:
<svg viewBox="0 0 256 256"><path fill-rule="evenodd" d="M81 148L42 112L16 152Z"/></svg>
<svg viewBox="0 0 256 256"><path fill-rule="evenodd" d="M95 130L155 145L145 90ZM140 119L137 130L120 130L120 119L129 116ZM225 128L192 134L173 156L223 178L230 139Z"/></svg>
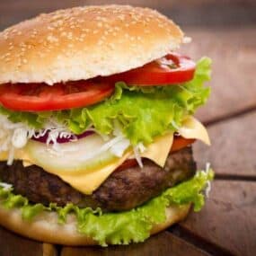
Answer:
<svg viewBox="0 0 256 256"><path fill-rule="evenodd" d="M66 223L69 214L75 214L77 230L81 234L92 237L102 246L108 244L139 243L150 235L153 225L165 221L165 208L170 205L185 207L192 203L195 211L204 206L204 190L208 182L212 181L212 170L200 171L189 181L165 190L162 195L149 200L145 205L119 213L102 213L100 208L79 208L72 204L66 207L57 207L50 204L45 207L41 204L31 205L28 199L14 195L12 190L0 187L0 204L6 208L20 208L22 217L31 221L42 211L56 211L59 225Z"/></svg>

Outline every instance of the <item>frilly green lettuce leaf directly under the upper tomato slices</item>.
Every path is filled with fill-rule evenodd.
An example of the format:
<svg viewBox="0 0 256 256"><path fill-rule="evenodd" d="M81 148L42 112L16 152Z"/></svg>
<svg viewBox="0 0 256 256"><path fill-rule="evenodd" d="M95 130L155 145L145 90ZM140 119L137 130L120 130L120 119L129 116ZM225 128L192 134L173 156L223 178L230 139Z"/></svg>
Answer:
<svg viewBox="0 0 256 256"><path fill-rule="evenodd" d="M172 86L128 86L119 82L114 95L88 108L49 112L16 112L0 108L13 122L24 122L32 128L43 128L51 119L75 134L93 126L99 133L109 135L119 127L132 145L149 144L167 131L175 131L182 119L192 115L209 96L210 88L203 84L210 78L211 60L199 60L194 78Z"/></svg>

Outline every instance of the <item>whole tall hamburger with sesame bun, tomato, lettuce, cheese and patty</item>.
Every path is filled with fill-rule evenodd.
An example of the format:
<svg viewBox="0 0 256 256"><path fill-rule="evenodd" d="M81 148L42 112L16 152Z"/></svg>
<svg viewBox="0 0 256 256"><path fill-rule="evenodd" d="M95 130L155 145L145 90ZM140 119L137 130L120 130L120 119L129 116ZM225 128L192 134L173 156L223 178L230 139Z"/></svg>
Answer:
<svg viewBox="0 0 256 256"><path fill-rule="evenodd" d="M66 245L143 242L199 211L213 172L191 144L210 59L160 13L40 14L0 33L0 224Z"/></svg>

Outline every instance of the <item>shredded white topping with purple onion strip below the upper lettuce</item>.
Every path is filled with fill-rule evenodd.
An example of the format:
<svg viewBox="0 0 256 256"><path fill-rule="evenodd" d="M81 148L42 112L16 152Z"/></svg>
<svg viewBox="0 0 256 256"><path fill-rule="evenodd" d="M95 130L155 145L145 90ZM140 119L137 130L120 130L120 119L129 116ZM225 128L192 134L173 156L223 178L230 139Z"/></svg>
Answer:
<svg viewBox="0 0 256 256"><path fill-rule="evenodd" d="M34 128L29 128L23 123L13 123L4 115L0 115L0 153L8 152L7 164L11 165L13 163L15 149L26 146L29 139L40 141L48 146L51 145L49 150L57 153L67 150L67 148L61 148L60 145L62 143L74 142L78 138L89 136L94 132L94 128L89 128L84 134L75 136L72 132L68 131L66 127L59 126L52 120L49 120L49 123L46 124L44 128L36 130ZM108 150L110 150L112 154L121 157L128 146L130 146L130 142L126 137L124 137L118 126L115 128L113 136L114 137L112 138L105 137L107 142L101 146L99 150L86 153L84 154L84 157L86 159L91 159L95 155ZM75 144L73 144L69 149L71 151L75 151ZM139 144L134 147L135 157L140 167L143 167L140 152L143 152L144 150L145 146L143 146L143 144Z"/></svg>

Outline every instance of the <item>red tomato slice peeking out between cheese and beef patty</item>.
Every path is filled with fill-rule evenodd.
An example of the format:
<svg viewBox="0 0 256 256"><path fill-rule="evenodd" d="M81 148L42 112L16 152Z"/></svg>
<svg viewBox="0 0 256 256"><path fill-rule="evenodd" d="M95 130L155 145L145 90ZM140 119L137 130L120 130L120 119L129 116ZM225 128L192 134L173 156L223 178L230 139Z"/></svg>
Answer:
<svg viewBox="0 0 256 256"><path fill-rule="evenodd" d="M195 142L195 139L193 139L193 138L184 138L181 136L174 137L170 153L178 151L185 146L189 146L193 142ZM137 166L137 160L136 159L128 159L124 163L122 163L116 171L122 171L122 170L125 170L128 168L134 167L134 166Z"/></svg>

